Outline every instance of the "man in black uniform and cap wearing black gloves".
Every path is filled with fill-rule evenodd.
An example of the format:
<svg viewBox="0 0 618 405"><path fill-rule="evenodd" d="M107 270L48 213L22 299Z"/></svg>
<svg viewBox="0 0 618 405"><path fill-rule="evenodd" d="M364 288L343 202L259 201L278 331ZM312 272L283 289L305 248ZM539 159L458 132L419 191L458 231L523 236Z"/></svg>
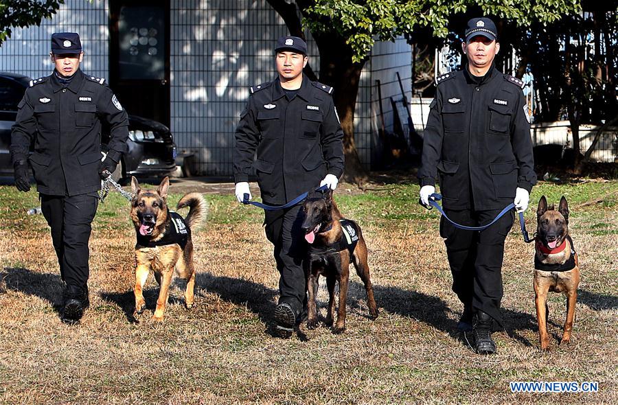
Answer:
<svg viewBox="0 0 618 405"><path fill-rule="evenodd" d="M55 69L30 82L19 103L10 149L15 184L23 192L30 190L28 162L32 166L65 282L62 318L78 321L89 305L88 242L97 191L127 150L128 119L104 79L80 71L84 53L78 34L53 34L49 55ZM102 122L110 127L103 161Z"/></svg>

